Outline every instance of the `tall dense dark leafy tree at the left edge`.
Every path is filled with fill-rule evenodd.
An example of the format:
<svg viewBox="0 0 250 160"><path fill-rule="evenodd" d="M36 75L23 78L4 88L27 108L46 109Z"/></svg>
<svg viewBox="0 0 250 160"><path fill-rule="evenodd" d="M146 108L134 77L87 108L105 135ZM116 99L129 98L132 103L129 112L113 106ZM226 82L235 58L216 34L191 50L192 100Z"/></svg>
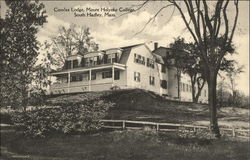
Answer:
<svg viewBox="0 0 250 160"><path fill-rule="evenodd" d="M36 34L47 16L38 1L7 0L6 5L9 9L1 20L1 100L25 109L39 54Z"/></svg>

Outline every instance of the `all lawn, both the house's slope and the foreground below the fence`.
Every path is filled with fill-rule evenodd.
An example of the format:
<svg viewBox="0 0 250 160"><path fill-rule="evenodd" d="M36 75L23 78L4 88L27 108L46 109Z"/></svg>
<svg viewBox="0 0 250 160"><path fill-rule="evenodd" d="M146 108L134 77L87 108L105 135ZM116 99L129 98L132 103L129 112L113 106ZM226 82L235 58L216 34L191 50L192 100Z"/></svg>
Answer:
<svg viewBox="0 0 250 160"><path fill-rule="evenodd" d="M83 99L104 99L115 104L105 119L142 120L208 125L208 106L166 100L143 90L82 93L48 98L48 105ZM222 108L223 127L249 128L249 110ZM8 116L5 116L8 122ZM2 117L1 117L2 120ZM5 122L4 121L4 122ZM56 135L29 139L1 132L1 158L25 160L250 160L249 142L182 138L176 133L103 131L91 135Z"/></svg>

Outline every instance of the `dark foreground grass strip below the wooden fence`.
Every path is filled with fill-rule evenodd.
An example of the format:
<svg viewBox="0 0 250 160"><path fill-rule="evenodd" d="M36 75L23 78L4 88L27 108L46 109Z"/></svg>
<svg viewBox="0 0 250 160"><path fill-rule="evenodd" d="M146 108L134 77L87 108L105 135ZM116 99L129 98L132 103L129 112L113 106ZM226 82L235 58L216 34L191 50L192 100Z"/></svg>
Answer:
<svg viewBox="0 0 250 160"><path fill-rule="evenodd" d="M247 160L250 158L248 142L181 138L175 134L152 131L112 131L46 139L28 139L16 133L2 133L1 150L4 151L1 151L4 159L23 157L26 160Z"/></svg>

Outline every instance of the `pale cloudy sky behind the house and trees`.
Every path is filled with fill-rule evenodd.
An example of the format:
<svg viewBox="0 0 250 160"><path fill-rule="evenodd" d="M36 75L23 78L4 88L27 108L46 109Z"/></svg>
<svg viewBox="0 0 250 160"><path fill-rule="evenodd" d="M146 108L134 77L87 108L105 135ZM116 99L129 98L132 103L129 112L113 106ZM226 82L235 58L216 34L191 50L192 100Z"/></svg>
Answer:
<svg viewBox="0 0 250 160"><path fill-rule="evenodd" d="M146 43L153 49L153 43L159 46L168 46L174 38L181 36L186 40L192 40L190 33L185 29L185 24L177 10L168 7L155 20L148 25L148 20L166 2L154 1L148 3L140 11L119 16L131 6L141 4L136 1L41 1L45 5L48 18L47 23L40 29L37 38L40 42L57 35L59 26L69 27L71 23L90 28L91 36L99 44L100 49L121 47L137 43ZM1 16L4 17L6 6L1 1ZM210 2L208 2L210 3ZM212 2L211 2L212 3ZM211 4L212 5L212 4ZM71 11L78 9L80 11ZM105 16L109 9L109 16ZM88 11L86 11L88 9ZM99 11L98 11L99 9ZM237 88L249 95L249 2L240 1L239 20L233 42L237 54L228 58L235 59L240 65L244 65L244 73L237 77ZM84 12L82 10L85 10ZM174 10L174 12L173 12ZM232 8L229 7L229 11ZM185 10L184 10L185 12ZM81 16L75 16L77 15ZM90 15L94 15L90 17ZM85 16L83 16L85 14ZM95 14L100 14L101 17ZM229 20L233 14L229 12ZM146 28L143 27L146 25ZM141 31L141 32L140 32Z"/></svg>

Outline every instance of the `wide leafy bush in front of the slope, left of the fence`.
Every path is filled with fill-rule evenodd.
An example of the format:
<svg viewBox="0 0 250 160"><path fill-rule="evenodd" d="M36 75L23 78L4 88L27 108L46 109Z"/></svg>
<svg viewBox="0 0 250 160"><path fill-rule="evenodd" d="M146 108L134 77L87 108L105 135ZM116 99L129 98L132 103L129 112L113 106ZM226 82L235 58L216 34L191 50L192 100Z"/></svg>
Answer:
<svg viewBox="0 0 250 160"><path fill-rule="evenodd" d="M83 101L15 112L12 119L28 137L46 137L54 133L88 133L101 128L100 119L105 117L112 105L103 100Z"/></svg>

